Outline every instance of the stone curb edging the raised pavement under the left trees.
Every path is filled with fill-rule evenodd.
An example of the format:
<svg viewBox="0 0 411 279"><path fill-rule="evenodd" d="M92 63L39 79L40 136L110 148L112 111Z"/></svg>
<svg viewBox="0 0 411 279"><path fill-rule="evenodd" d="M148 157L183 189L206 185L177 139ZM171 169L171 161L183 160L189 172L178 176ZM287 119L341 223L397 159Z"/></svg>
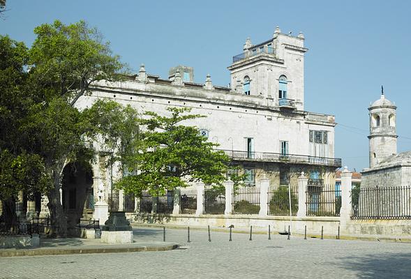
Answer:
<svg viewBox="0 0 411 279"><path fill-rule="evenodd" d="M31 249L0 251L0 257L48 256L48 255L73 255L73 254L102 254L117 252L154 252L169 251L179 248L177 243L164 246L136 246L136 247L107 247L107 248L70 248L70 249Z"/></svg>

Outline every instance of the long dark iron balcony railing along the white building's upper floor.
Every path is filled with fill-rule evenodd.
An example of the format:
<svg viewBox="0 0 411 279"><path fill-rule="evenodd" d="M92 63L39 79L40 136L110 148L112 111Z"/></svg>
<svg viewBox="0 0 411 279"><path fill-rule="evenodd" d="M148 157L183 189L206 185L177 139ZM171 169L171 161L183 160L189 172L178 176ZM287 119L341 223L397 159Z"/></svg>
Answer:
<svg viewBox="0 0 411 279"><path fill-rule="evenodd" d="M249 152L237 150L221 150L233 160L250 160L262 162L278 162L305 165L324 165L329 167L341 167L340 158L326 158L295 154L269 153L269 152Z"/></svg>

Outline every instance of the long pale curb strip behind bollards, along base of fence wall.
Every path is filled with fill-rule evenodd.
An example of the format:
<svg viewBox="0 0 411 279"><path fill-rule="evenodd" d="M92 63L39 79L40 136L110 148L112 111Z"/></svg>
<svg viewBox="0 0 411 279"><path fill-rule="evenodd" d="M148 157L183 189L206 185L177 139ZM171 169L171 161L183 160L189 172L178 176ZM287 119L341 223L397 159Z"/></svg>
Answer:
<svg viewBox="0 0 411 279"><path fill-rule="evenodd" d="M163 224L146 224L146 223L132 223L130 224L133 228L138 227L167 227L168 229L187 229L187 226L182 225L163 225ZM211 228L211 232L227 232L228 228ZM190 230L197 231L207 231L207 227L190 227ZM249 234L248 229L232 229L233 234ZM253 234L268 234L268 232L263 232L261 230L255 230L253 228ZM279 234L277 231L271 231L272 234ZM304 234L294 233L291 236L304 237ZM307 234L307 239L320 239L321 234ZM324 234L323 239L337 239L336 235ZM399 242L399 243L411 243L411 238L409 236L355 236L340 234L340 240L358 240L358 241L382 241L382 242Z"/></svg>

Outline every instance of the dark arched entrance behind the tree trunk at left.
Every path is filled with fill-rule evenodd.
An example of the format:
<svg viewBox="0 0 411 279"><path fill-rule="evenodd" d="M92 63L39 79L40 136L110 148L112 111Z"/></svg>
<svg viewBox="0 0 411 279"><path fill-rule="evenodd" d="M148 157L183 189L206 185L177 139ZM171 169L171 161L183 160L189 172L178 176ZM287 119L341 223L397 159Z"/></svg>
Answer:
<svg viewBox="0 0 411 279"><path fill-rule="evenodd" d="M63 169L63 209L67 216L67 227L75 227L80 218L93 215L93 172L89 164L69 163Z"/></svg>

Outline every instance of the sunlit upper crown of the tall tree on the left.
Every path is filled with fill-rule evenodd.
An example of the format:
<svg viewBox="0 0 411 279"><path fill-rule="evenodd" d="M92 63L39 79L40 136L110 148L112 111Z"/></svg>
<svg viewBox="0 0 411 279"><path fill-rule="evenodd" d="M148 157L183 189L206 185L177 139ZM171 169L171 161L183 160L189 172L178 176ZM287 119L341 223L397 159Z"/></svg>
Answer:
<svg viewBox="0 0 411 279"><path fill-rule="evenodd" d="M30 50L31 75L42 88L53 89L74 105L98 80L120 80L125 65L113 55L97 29L84 21L64 25L59 20L34 29Z"/></svg>

